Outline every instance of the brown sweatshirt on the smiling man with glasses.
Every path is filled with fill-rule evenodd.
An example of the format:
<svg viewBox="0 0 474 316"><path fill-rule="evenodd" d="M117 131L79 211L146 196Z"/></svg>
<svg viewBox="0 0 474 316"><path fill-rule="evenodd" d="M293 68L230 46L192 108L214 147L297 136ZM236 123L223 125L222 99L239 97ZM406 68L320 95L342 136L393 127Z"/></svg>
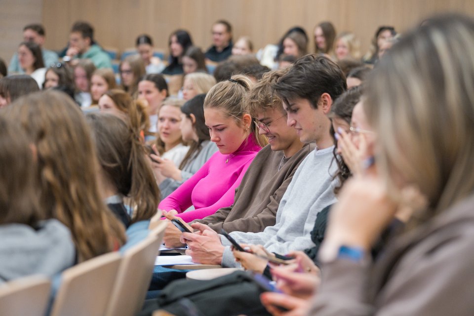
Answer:
<svg viewBox="0 0 474 316"><path fill-rule="evenodd" d="M306 144L290 158L283 151L274 152L265 146L253 159L242 182L236 189L234 204L224 207L213 215L197 220L220 233L262 232L275 225L276 210L281 197L291 182L296 169L316 144Z"/></svg>

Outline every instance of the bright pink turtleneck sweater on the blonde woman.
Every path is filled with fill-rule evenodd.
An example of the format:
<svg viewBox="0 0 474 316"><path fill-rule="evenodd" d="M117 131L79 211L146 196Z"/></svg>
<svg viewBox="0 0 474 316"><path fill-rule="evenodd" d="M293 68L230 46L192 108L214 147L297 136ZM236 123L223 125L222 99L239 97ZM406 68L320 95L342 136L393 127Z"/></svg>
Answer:
<svg viewBox="0 0 474 316"><path fill-rule="evenodd" d="M215 153L194 176L163 199L158 208L165 211L175 209L180 213L177 216L189 223L232 205L235 190L260 149L250 134L233 154ZM195 209L183 213L191 205Z"/></svg>

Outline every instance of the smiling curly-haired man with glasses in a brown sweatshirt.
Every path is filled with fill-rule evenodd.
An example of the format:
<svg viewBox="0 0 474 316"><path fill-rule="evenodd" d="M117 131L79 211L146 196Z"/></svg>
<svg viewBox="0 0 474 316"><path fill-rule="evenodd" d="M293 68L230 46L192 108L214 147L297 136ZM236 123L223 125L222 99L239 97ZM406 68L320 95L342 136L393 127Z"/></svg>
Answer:
<svg viewBox="0 0 474 316"><path fill-rule="evenodd" d="M271 85L285 73L266 74L250 91L250 114L255 118L259 133L269 140L269 145L250 164L237 189L233 205L197 220L218 233L222 228L226 232L256 233L275 225L281 197L301 161L315 148L314 143L308 146L301 143L296 130L287 126L281 99L273 94ZM176 247L181 245L180 236L177 230L168 229L164 241L168 247Z"/></svg>

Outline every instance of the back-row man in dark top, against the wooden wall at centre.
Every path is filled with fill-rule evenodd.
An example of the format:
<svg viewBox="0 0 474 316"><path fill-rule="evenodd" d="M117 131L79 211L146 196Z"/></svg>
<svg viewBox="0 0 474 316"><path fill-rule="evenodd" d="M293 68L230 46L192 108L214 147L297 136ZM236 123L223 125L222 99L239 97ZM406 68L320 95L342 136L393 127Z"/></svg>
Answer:
<svg viewBox="0 0 474 316"><path fill-rule="evenodd" d="M212 46L206 51L206 59L219 63L232 55L232 26L225 20L212 25Z"/></svg>

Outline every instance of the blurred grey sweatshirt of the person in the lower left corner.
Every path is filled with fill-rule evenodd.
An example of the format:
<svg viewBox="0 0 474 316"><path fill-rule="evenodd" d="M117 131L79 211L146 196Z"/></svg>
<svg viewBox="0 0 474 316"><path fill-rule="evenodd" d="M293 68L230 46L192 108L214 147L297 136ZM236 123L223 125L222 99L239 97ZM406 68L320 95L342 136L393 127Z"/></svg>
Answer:
<svg viewBox="0 0 474 316"><path fill-rule="evenodd" d="M37 230L24 224L0 225L0 283L33 274L53 276L75 264L69 230L55 219Z"/></svg>

